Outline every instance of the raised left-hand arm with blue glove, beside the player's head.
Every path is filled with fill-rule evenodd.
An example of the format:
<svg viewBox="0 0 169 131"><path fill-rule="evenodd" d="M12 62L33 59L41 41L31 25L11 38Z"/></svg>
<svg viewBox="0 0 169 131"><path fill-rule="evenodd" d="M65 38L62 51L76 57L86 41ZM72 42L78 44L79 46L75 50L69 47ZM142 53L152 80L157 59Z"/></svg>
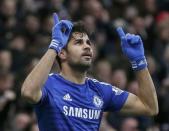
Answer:
<svg viewBox="0 0 169 131"><path fill-rule="evenodd" d="M37 103L41 99L41 88L47 80L57 54L67 44L72 29L72 23L70 21L59 21L58 16L55 13L53 17L54 26L52 29L52 41L49 45L49 49L27 76L21 88L22 97L30 103ZM63 28L65 29L65 32L62 32Z"/></svg>

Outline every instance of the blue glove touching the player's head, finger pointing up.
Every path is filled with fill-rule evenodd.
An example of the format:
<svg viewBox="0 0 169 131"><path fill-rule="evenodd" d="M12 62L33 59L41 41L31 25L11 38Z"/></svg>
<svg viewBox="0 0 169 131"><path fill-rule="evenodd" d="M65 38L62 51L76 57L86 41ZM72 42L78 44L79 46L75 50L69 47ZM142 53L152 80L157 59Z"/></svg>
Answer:
<svg viewBox="0 0 169 131"><path fill-rule="evenodd" d="M59 21L56 13L53 14L53 19L54 26L52 28L52 41L49 48L54 49L57 53L59 53L68 42L73 24L68 20Z"/></svg>

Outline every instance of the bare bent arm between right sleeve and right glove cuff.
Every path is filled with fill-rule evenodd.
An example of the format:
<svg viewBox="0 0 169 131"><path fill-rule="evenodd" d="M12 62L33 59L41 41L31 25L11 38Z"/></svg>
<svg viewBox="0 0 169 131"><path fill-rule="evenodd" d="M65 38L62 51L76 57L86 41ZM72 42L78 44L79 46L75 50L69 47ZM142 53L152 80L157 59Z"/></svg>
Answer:
<svg viewBox="0 0 169 131"><path fill-rule="evenodd" d="M156 115L158 114L157 94L148 69L136 72L139 83L138 96L130 93L122 113Z"/></svg>

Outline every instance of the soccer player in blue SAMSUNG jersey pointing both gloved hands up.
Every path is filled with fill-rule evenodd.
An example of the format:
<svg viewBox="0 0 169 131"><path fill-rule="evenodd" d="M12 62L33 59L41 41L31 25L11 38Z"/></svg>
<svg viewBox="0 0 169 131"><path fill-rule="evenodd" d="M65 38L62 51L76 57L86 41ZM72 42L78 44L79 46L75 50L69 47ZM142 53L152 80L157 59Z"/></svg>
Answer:
<svg viewBox="0 0 169 131"><path fill-rule="evenodd" d="M97 131L104 111L138 115L158 113L157 95L138 35L117 32L139 83L138 96L86 77L92 44L82 23L54 14L49 49L25 79L21 94L33 103L40 131ZM58 59L59 74L49 74Z"/></svg>

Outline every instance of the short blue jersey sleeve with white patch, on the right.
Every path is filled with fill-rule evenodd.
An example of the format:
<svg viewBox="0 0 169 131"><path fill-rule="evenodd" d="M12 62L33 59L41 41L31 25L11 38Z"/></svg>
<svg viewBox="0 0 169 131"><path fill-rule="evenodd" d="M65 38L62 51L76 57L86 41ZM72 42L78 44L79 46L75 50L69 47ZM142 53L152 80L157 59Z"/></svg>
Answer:
<svg viewBox="0 0 169 131"><path fill-rule="evenodd" d="M102 84L104 111L119 111L126 102L129 93L110 84Z"/></svg>

